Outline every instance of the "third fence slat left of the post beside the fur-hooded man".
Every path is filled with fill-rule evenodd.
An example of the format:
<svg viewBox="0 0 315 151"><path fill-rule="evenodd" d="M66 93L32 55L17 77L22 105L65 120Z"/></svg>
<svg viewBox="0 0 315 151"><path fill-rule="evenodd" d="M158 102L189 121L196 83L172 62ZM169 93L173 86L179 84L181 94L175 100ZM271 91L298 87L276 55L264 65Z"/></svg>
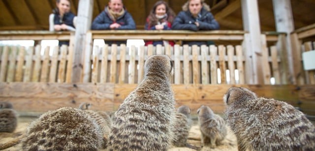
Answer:
<svg viewBox="0 0 315 151"><path fill-rule="evenodd" d="M226 84L226 76L225 76L225 52L226 48L223 45L219 45L219 68L221 72L221 84Z"/></svg>

